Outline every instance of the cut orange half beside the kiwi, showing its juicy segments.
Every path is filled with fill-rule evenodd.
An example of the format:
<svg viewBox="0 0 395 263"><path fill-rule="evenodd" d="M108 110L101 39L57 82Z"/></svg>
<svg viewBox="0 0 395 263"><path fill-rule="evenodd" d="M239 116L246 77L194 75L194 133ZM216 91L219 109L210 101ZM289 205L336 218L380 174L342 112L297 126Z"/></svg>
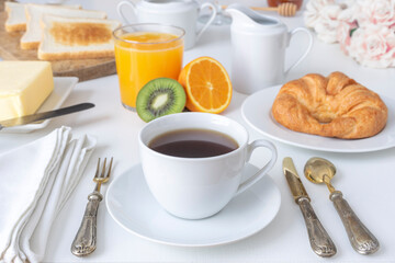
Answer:
<svg viewBox="0 0 395 263"><path fill-rule="evenodd" d="M189 62L179 77L192 112L221 113L230 104L232 82L225 68L214 58L200 57Z"/></svg>

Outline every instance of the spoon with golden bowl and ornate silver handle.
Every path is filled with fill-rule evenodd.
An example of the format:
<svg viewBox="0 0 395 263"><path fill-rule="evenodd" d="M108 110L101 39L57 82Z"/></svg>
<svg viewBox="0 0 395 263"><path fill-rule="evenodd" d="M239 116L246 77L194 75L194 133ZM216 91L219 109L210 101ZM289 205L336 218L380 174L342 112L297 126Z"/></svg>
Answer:
<svg viewBox="0 0 395 263"><path fill-rule="evenodd" d="M327 185L330 192L329 198L334 202L341 218L352 248L360 254L376 252L380 247L377 239L357 217L350 205L343 199L342 193L330 184L330 180L336 173L335 165L328 160L313 157L306 162L304 173L308 181Z"/></svg>

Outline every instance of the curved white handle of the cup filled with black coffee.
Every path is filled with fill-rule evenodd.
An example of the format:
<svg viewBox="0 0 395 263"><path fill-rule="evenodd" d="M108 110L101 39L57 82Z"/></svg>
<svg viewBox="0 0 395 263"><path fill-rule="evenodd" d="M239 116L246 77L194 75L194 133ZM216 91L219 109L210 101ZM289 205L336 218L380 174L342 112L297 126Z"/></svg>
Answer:
<svg viewBox="0 0 395 263"><path fill-rule="evenodd" d="M255 149L257 149L258 147L264 147L264 148L268 148L271 153L272 153L272 157L270 159L270 161L262 168L260 169L256 174L253 174L250 179L248 179L247 181L245 181L244 183L241 183L235 194L236 195L239 195L241 194L242 192L245 192L247 188L249 188L250 186L252 186L255 183L257 183L259 180L261 180L263 178L263 175L269 172L273 167L274 167L274 163L276 161L276 158L278 158L278 155L276 155L276 149L275 149L275 146L268 141L268 140L255 140L252 141L251 144L249 144L247 146L247 161L250 159L251 155L252 155L252 151Z"/></svg>

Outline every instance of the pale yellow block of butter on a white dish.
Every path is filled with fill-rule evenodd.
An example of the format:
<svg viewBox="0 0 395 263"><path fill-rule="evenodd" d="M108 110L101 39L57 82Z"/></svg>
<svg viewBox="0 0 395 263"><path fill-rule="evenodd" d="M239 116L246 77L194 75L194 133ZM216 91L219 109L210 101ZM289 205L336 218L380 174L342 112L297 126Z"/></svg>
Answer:
<svg viewBox="0 0 395 263"><path fill-rule="evenodd" d="M35 113L54 90L47 61L0 61L0 121Z"/></svg>

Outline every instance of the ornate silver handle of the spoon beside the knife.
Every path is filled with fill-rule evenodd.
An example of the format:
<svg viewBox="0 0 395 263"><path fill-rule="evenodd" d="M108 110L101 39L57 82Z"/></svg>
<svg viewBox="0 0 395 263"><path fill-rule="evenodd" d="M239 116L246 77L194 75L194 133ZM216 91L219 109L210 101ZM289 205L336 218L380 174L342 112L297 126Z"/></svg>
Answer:
<svg viewBox="0 0 395 263"><path fill-rule="evenodd" d="M357 217L340 191L335 191L329 198L334 202L352 248L360 254L372 254L380 248L377 239Z"/></svg>

